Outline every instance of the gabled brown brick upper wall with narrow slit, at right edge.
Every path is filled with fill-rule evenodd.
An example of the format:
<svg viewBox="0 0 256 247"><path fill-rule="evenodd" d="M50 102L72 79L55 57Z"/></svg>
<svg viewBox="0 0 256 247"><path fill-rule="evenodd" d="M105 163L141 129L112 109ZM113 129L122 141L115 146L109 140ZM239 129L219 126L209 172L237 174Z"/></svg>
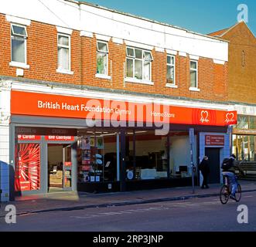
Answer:
<svg viewBox="0 0 256 247"><path fill-rule="evenodd" d="M254 35L247 25L241 22L221 38L230 41L228 100L256 103L256 39Z"/></svg>

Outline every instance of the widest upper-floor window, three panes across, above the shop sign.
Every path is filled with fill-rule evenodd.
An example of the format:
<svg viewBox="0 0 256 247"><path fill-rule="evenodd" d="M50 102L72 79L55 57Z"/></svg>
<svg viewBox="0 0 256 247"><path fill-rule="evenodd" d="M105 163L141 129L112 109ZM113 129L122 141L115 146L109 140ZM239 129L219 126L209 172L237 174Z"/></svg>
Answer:
<svg viewBox="0 0 256 247"><path fill-rule="evenodd" d="M127 47L126 76L138 80L151 81L152 60L151 52Z"/></svg>

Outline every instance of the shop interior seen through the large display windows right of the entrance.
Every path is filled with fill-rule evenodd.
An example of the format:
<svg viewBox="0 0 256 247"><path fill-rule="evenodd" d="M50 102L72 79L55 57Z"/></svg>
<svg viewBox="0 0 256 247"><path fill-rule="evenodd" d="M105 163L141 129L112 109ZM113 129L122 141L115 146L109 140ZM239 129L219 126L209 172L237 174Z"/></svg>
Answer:
<svg viewBox="0 0 256 247"><path fill-rule="evenodd" d="M79 183L118 181L118 134L114 129L78 130ZM125 164L126 180L187 178L191 176L189 135L176 131L168 137L155 135L155 130L128 130Z"/></svg>

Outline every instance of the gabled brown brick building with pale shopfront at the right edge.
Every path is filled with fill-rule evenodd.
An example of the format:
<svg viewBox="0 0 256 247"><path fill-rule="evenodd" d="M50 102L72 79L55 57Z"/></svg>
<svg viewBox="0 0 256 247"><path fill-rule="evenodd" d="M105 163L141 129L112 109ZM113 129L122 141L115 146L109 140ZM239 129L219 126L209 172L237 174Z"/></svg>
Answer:
<svg viewBox="0 0 256 247"><path fill-rule="evenodd" d="M237 22L229 29L210 36L229 42L227 100L237 110L233 130L233 153L239 160L256 161L256 38L246 23Z"/></svg>

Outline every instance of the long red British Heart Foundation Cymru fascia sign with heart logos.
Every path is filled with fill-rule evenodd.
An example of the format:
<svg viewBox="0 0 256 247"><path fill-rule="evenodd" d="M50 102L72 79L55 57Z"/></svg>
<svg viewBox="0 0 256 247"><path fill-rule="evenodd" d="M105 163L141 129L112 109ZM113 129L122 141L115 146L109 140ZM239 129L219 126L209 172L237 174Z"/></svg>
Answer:
<svg viewBox="0 0 256 247"><path fill-rule="evenodd" d="M11 94L11 113L17 115L209 126L228 126L237 123L236 111L91 99L14 90Z"/></svg>

